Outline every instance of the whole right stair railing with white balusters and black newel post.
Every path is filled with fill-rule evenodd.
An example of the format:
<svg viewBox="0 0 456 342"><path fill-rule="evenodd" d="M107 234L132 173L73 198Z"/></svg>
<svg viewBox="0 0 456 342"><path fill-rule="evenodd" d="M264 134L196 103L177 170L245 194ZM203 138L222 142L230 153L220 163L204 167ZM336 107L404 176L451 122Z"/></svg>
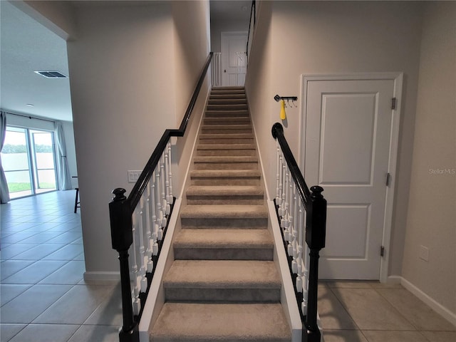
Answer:
<svg viewBox="0 0 456 342"><path fill-rule="evenodd" d="M309 188L299 170L280 123L272 126L277 142L276 205L289 260L301 321L302 341L320 342L317 323L318 258L325 247L326 199L322 187Z"/></svg>

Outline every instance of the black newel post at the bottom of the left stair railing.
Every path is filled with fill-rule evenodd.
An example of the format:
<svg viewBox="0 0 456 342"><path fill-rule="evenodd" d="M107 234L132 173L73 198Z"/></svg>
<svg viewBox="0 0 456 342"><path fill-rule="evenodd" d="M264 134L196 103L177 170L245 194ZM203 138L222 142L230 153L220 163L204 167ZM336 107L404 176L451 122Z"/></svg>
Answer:
<svg viewBox="0 0 456 342"><path fill-rule="evenodd" d="M130 287L130 264L128 262L128 249L133 243L132 218L130 202L125 197L125 189L113 190L115 197L109 203L109 217L111 226L111 242L113 249L119 253L120 286L122 291L123 326L119 331L120 342L134 342L137 340L135 328L138 322L133 315Z"/></svg>

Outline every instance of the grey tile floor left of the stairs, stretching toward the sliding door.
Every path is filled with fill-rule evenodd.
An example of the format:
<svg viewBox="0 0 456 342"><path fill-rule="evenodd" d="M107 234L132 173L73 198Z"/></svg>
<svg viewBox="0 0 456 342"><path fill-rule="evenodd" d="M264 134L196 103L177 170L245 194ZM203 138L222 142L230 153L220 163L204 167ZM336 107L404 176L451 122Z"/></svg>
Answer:
<svg viewBox="0 0 456 342"><path fill-rule="evenodd" d="M75 190L0 205L0 341L118 342L118 282L83 281Z"/></svg>

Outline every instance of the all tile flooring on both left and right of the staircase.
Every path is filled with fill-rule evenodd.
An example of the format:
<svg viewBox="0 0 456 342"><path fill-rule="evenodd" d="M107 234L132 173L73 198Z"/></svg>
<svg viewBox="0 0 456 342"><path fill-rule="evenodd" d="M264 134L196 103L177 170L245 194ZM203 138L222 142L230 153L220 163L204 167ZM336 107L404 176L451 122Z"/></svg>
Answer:
<svg viewBox="0 0 456 342"><path fill-rule="evenodd" d="M118 283L83 281L74 190L1 204L0 341L118 342ZM456 342L456 327L400 285L323 282L325 342Z"/></svg>

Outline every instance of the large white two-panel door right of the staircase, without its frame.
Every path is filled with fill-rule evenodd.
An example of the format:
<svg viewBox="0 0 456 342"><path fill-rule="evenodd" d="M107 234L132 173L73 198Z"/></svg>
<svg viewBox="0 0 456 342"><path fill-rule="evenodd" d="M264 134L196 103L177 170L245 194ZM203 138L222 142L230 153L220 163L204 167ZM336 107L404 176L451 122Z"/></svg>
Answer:
<svg viewBox="0 0 456 342"><path fill-rule="evenodd" d="M309 81L304 177L328 201L321 279L379 279L394 80Z"/></svg>

